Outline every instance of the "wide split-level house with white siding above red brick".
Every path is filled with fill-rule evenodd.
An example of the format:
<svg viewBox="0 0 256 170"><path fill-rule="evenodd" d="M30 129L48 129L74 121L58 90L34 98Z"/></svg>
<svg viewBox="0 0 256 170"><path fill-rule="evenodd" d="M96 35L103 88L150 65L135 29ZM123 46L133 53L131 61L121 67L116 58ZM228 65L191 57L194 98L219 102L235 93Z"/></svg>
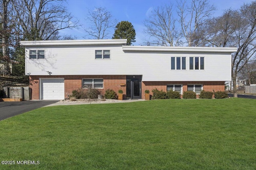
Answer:
<svg viewBox="0 0 256 170"><path fill-rule="evenodd" d="M92 86L102 94L123 90L144 99L144 91L224 91L231 79L225 47L127 46L126 39L21 41L32 100L64 99Z"/></svg>

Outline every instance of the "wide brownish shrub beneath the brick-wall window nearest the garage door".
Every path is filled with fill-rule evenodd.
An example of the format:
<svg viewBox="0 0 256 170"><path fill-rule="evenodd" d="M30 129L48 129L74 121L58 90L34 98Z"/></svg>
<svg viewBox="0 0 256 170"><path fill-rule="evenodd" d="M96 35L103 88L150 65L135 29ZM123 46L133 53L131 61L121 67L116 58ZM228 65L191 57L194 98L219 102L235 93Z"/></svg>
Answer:
<svg viewBox="0 0 256 170"><path fill-rule="evenodd" d="M100 91L96 88L79 88L78 90L73 90L71 97L76 99L97 99Z"/></svg>

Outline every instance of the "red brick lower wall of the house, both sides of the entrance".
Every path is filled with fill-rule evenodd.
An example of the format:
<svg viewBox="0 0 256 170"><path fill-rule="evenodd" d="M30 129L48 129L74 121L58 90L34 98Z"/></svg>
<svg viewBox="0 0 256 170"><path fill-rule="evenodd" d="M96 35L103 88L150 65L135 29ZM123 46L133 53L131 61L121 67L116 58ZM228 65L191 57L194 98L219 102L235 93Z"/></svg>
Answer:
<svg viewBox="0 0 256 170"><path fill-rule="evenodd" d="M126 95L126 86L120 86L120 84L126 84L126 75L72 75L72 76L30 76L30 88L32 88L32 100L39 99L39 78L64 78L64 88L65 88L65 98L72 94L72 90L76 90L82 87L83 78L103 78L103 89L99 89L102 94L105 93L107 89L112 89L116 93L118 90L123 90L124 96ZM203 84L203 89L205 91L224 91L225 82L224 81L188 81L188 82L172 82L172 81L162 81L153 82L147 81L142 82L142 99L145 99L145 90L150 91L152 95L152 90L157 88L158 90L163 90L166 92L167 84L182 84L183 92L187 91L188 84Z"/></svg>

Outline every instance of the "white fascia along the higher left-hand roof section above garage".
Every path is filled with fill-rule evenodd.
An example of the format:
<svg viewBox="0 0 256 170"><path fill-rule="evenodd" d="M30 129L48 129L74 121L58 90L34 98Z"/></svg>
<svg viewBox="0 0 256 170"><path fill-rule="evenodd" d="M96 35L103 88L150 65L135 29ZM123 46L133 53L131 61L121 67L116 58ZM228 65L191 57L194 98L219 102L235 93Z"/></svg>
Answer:
<svg viewBox="0 0 256 170"><path fill-rule="evenodd" d="M126 45L127 39L84 39L84 40L47 40L47 41L20 41L22 46L45 45Z"/></svg>

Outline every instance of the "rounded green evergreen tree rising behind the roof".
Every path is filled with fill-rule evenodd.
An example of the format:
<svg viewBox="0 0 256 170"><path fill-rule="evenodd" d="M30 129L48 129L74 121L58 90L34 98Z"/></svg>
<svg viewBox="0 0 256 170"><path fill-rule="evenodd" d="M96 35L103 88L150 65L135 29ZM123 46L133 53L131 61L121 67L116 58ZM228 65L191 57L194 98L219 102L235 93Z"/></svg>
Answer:
<svg viewBox="0 0 256 170"><path fill-rule="evenodd" d="M116 25L112 39L127 39L127 45L135 42L135 29L129 21L121 21Z"/></svg>

